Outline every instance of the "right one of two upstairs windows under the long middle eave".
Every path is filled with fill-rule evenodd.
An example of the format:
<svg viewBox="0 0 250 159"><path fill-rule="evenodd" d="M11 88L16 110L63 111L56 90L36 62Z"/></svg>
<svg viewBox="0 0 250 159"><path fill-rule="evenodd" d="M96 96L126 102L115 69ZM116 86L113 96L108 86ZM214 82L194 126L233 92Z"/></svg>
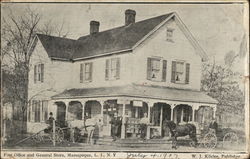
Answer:
<svg viewBox="0 0 250 159"><path fill-rule="evenodd" d="M105 79L115 80L120 78L120 58L106 60Z"/></svg>

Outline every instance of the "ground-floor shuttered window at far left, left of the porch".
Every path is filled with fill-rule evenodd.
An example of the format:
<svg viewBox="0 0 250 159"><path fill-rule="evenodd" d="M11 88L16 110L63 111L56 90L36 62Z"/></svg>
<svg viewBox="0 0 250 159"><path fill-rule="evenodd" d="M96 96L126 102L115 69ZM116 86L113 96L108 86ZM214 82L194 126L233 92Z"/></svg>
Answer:
<svg viewBox="0 0 250 159"><path fill-rule="evenodd" d="M48 119L48 101L32 100L30 103L28 120L30 122L45 122Z"/></svg>

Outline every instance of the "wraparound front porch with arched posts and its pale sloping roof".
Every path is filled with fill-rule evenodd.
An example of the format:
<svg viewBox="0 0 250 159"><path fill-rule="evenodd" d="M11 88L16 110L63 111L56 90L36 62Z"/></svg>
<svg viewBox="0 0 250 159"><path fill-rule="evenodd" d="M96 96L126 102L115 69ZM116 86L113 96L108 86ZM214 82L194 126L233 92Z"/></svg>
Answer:
<svg viewBox="0 0 250 159"><path fill-rule="evenodd" d="M169 137L169 132L163 130L164 120L192 122L202 128L215 117L216 103L199 91L130 85L67 90L54 96L49 105L58 121L98 117L100 137L111 137L110 121L117 114L122 121L120 139L139 138L140 119L146 113L146 138L152 139ZM207 114L206 109L210 110Z"/></svg>

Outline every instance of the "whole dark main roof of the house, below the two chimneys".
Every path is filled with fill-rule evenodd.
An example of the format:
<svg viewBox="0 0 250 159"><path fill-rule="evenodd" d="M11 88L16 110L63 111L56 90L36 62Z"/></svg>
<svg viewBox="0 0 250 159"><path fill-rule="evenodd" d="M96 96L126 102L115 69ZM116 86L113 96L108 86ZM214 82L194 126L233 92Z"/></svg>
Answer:
<svg viewBox="0 0 250 159"><path fill-rule="evenodd" d="M128 26L82 36L78 40L42 34L37 34L37 37L49 57L61 60L79 60L110 53L131 51L141 40L173 15L176 15L176 13L169 13L132 23ZM200 55L205 58L205 53Z"/></svg>

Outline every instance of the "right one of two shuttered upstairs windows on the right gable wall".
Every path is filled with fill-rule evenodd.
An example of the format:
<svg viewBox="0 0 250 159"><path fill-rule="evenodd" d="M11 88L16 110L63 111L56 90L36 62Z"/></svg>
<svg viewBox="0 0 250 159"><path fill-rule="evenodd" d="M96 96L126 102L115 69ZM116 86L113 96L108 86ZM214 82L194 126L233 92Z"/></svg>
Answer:
<svg viewBox="0 0 250 159"><path fill-rule="evenodd" d="M172 83L189 83L190 64L184 61L172 61Z"/></svg>

